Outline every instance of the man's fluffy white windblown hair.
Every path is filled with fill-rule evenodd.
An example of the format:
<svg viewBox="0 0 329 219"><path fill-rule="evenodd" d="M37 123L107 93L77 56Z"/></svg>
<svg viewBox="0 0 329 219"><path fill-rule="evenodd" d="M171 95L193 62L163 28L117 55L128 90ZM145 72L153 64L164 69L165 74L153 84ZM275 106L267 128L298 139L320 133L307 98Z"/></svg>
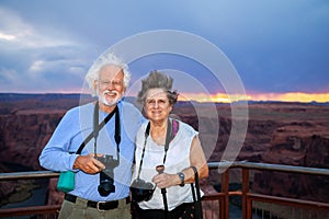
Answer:
<svg viewBox="0 0 329 219"><path fill-rule="evenodd" d="M99 80L100 70L104 66L116 66L116 67L121 68L123 73L124 73L124 81L123 81L124 87L128 88L128 85L129 85L132 73L128 70L128 66L126 64L124 64L122 59L120 59L118 57L116 57L112 53L103 54L90 67L89 71L88 71L88 73L86 74L86 78L84 78L88 85L89 85L89 88L92 91L92 96L98 95L97 91L94 90L93 84L94 84L95 80Z"/></svg>

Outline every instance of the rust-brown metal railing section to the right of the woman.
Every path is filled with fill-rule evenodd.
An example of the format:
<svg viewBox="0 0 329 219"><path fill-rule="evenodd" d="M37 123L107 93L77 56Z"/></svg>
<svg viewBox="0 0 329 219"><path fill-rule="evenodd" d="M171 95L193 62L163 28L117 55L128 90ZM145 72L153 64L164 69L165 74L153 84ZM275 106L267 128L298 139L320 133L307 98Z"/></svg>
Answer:
<svg viewBox="0 0 329 219"><path fill-rule="evenodd" d="M297 198L277 197L270 195L256 194L250 188L250 171L272 171L272 172L286 172L291 174L307 174L317 176L329 177L328 169L315 169L315 168L303 168L303 166L292 166L292 165L281 165L281 164L265 164L265 163L252 163L252 162L219 162L219 163L208 163L209 169L228 170L222 174L222 191L220 194L224 195L224 201L219 209L219 218L229 218L229 197L240 196L241 197L241 218L308 218L308 219L324 219L329 218L329 200L327 203L311 201L311 200L300 200ZM241 169L241 191L229 191L229 171L232 169ZM286 206L292 207L293 211L305 210L310 211L309 217L304 215L300 217L298 214L288 214L279 216L277 209L268 208L268 210L261 210L260 214L254 211L256 204L270 204L273 206L279 206L284 208ZM264 205L262 205L264 206ZM260 215L260 216L259 216ZM282 214L281 214L282 215ZM315 216L316 215L316 216Z"/></svg>

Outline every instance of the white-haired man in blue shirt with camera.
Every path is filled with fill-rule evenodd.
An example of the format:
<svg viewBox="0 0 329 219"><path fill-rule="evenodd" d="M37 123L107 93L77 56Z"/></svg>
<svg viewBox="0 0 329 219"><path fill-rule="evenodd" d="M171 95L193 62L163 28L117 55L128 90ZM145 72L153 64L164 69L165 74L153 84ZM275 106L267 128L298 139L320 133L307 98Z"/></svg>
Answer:
<svg viewBox="0 0 329 219"><path fill-rule="evenodd" d="M48 170L75 172L75 188L65 194L59 218L131 218L134 140L144 122L140 112L123 100L131 73L121 59L106 54L86 80L98 101L65 114L39 163Z"/></svg>

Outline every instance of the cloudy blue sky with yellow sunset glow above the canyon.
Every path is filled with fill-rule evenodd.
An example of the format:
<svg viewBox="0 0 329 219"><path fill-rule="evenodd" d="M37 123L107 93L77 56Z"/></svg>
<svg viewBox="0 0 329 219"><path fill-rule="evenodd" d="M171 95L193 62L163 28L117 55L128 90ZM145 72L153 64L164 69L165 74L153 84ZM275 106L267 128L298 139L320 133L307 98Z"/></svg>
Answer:
<svg viewBox="0 0 329 219"><path fill-rule="evenodd" d="M182 99L329 102L327 0L1 0L0 18L1 93L81 92L84 74L107 48L138 34L172 30L220 50L246 93L228 94L234 82L216 78L218 72L200 59L159 51L128 64L128 94L159 69L174 78ZM134 44L125 53L144 46ZM202 45L190 48L212 57Z"/></svg>

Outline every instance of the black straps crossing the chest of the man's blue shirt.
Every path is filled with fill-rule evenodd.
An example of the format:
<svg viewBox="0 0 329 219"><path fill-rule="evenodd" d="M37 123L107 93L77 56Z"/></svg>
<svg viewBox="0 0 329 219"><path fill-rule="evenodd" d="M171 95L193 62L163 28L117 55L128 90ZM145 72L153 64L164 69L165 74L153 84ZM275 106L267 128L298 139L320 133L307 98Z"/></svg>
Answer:
<svg viewBox="0 0 329 219"><path fill-rule="evenodd" d="M77 154L81 154L82 149L87 146L87 143L94 138L94 147L97 146L97 138L99 136L99 131L105 126L105 124L112 118L112 116L115 114L115 132L114 132L114 140L116 142L117 147L117 159L120 153L120 142L121 142L121 126L120 126L120 114L118 108L115 106L114 111L112 111L100 124L99 123L99 102L94 105L93 111L93 131L90 132L84 141L80 145L79 149L77 150Z"/></svg>

